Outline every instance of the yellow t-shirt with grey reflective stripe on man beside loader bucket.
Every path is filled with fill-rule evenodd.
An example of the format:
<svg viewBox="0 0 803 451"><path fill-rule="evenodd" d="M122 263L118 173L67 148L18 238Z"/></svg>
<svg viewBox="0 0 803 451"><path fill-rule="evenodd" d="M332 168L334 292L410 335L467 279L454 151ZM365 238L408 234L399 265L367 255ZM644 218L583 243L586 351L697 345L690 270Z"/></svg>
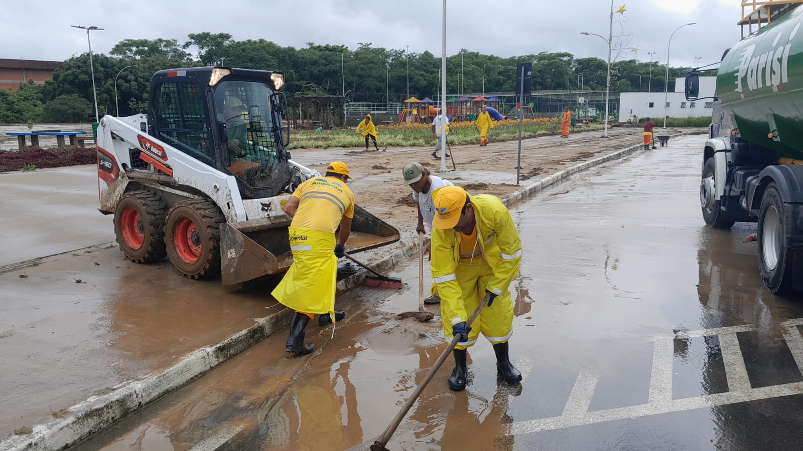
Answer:
<svg viewBox="0 0 803 451"><path fill-rule="evenodd" d="M334 234L343 216L354 217L354 194L335 177L311 178L291 196L300 201L292 227Z"/></svg>

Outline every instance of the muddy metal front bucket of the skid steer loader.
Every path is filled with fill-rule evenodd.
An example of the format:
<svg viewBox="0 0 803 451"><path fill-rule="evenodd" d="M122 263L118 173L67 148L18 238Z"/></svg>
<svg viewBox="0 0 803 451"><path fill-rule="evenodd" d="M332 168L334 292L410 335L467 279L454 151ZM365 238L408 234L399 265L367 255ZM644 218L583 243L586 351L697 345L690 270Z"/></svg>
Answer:
<svg viewBox="0 0 803 451"><path fill-rule="evenodd" d="M289 217L222 224L220 262L223 285L287 271L293 262L287 237L288 225ZM360 206L354 207L352 233L346 243L349 254L386 246L399 238L395 227Z"/></svg>

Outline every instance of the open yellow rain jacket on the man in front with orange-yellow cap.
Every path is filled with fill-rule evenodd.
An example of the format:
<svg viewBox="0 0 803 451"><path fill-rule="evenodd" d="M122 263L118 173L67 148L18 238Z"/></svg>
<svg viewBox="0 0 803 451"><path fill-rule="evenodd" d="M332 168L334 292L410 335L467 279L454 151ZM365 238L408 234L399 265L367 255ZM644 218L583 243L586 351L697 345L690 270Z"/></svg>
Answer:
<svg viewBox="0 0 803 451"><path fill-rule="evenodd" d="M493 272L480 294L484 296L487 290L498 296L507 295L507 287L519 274L521 262L521 239L516 224L498 197L485 194L469 194L468 197L474 206L479 244ZM452 325L467 321L472 313L466 311L467 302L464 301L467 299L464 299L459 274L456 274L459 248L460 237L453 229L432 230L432 278L441 296L441 315Z"/></svg>

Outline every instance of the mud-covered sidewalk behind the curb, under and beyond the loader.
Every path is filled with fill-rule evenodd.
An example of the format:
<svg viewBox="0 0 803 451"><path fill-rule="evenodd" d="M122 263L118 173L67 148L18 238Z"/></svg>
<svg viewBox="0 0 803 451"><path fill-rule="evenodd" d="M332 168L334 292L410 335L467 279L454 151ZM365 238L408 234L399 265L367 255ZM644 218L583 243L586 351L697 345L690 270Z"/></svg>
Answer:
<svg viewBox="0 0 803 451"><path fill-rule="evenodd" d="M609 134L525 140L521 185L641 140L640 128ZM442 176L505 197L520 189L516 149L516 142L454 146L457 170ZM349 165L357 203L402 232L401 242L363 256L376 262L414 241L415 205L400 174L413 160L435 172L431 151L299 149L292 156L320 171L332 160ZM222 286L183 278L167 260L124 260L111 218L97 212L96 186L94 166L0 175L0 437L70 416L79 401L171 368L283 311L270 296L279 278Z"/></svg>

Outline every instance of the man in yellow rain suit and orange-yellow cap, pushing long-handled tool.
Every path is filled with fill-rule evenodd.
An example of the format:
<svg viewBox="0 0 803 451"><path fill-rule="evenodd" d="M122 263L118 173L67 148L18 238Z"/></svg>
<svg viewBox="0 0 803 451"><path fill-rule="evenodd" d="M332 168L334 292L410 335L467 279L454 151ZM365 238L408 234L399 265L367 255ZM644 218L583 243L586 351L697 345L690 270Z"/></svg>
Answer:
<svg viewBox="0 0 803 451"><path fill-rule="evenodd" d="M432 221L432 277L441 295L441 318L446 341L463 339L454 347L454 371L449 388L466 388L467 347L479 333L493 344L497 376L508 384L521 381L521 373L507 355L513 333L513 302L507 287L519 274L521 240L513 218L497 197L471 196L459 186L444 186L434 193ZM489 295L474 324L468 317Z"/></svg>

